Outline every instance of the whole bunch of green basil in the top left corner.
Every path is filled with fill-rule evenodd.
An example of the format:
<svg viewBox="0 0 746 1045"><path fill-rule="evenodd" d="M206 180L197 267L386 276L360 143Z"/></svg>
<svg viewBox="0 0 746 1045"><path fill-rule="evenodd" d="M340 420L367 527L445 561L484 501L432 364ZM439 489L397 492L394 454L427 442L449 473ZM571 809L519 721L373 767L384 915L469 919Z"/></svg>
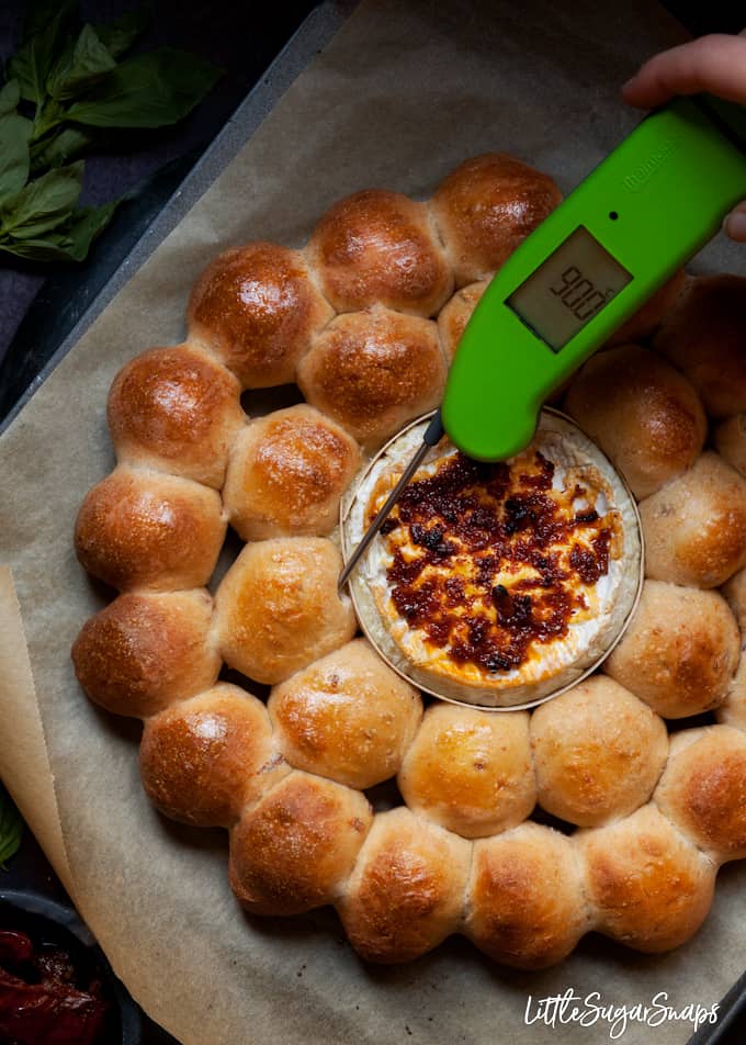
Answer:
<svg viewBox="0 0 746 1045"><path fill-rule="evenodd" d="M82 260L116 201L79 207L83 162L70 160L109 128L177 123L221 76L172 47L120 60L146 22L135 12L81 25L75 0L43 2L26 20L0 89L0 250Z"/></svg>

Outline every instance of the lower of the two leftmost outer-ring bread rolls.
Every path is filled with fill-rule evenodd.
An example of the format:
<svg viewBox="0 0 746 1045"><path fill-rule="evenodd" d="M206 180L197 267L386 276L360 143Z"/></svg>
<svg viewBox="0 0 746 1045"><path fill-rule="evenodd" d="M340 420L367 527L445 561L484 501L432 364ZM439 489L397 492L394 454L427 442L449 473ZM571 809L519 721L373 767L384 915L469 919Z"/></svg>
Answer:
<svg viewBox="0 0 746 1045"><path fill-rule="evenodd" d="M120 595L75 641L78 682L108 711L137 718L207 689L221 670L212 613L204 589Z"/></svg>

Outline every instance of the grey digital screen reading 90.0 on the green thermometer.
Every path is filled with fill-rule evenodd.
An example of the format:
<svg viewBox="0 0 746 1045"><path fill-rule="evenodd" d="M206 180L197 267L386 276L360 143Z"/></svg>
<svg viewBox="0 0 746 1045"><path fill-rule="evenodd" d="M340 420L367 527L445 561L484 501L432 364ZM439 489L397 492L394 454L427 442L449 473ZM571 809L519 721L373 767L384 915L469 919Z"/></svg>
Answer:
<svg viewBox="0 0 746 1045"><path fill-rule="evenodd" d="M560 352L631 280L632 273L580 225L506 304Z"/></svg>

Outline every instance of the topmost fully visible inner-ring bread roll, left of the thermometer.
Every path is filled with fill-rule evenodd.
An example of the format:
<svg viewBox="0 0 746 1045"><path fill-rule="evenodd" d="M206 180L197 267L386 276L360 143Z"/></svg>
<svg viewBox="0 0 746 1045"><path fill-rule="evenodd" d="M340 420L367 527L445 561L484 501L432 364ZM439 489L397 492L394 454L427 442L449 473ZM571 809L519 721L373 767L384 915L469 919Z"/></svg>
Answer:
<svg viewBox="0 0 746 1045"><path fill-rule="evenodd" d="M330 323L297 380L309 403L372 450L438 406L445 372L431 319L376 306Z"/></svg>

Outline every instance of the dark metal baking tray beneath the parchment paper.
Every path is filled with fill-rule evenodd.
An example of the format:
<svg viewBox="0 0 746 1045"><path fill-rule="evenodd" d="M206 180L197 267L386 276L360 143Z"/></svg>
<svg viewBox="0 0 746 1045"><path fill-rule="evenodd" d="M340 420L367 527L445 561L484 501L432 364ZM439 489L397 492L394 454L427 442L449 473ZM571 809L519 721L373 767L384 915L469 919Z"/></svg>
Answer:
<svg viewBox="0 0 746 1045"><path fill-rule="evenodd" d="M303 5L303 4L301 4ZM0 363L0 431L80 339L84 330L212 184L296 76L342 25L357 0L308 2L308 14L250 90L226 125L204 150L171 161L132 194L113 228L97 244L95 263L59 271L32 304ZM730 2L664 4L693 34L736 33L743 15ZM271 59L268 55L268 60ZM64 890L44 854L26 832L12 878L32 884L53 898ZM746 1041L746 971L724 996L719 1021L693 1034L688 1045L743 1045ZM172 1042L150 1025L145 1042Z"/></svg>

